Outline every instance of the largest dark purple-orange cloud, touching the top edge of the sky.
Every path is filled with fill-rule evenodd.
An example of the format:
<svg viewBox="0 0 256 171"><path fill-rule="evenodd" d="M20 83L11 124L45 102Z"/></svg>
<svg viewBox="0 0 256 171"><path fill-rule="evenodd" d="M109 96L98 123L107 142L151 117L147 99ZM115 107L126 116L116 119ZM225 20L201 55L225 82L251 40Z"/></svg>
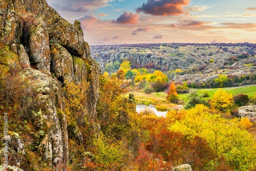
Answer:
<svg viewBox="0 0 256 171"><path fill-rule="evenodd" d="M189 2L190 0L148 0L136 11L151 15L180 15L183 14L183 6Z"/></svg>

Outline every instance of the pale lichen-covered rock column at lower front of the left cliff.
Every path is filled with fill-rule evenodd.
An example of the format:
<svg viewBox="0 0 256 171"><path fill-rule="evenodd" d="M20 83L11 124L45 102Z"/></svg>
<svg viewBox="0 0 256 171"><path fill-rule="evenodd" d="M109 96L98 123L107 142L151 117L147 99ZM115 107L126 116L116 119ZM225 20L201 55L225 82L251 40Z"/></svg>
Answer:
<svg viewBox="0 0 256 171"><path fill-rule="evenodd" d="M37 95L33 98L39 106L32 112L36 125L43 127L47 123L54 123L48 130L49 134L40 143L40 151L44 155L44 160L49 160L50 164L59 164L63 161L63 156L68 157L68 147L66 139L67 131L63 132L60 127L59 118L55 107L55 99L58 92L57 81L48 75L34 69L25 69L20 73L20 78L29 79L31 89ZM63 129L63 127L62 127ZM66 142L66 143L65 143Z"/></svg>

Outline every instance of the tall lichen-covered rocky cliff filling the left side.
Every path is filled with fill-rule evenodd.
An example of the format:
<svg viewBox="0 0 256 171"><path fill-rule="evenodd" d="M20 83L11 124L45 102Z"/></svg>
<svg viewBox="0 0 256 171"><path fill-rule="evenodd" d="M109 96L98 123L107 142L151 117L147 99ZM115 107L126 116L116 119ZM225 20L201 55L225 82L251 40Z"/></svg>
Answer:
<svg viewBox="0 0 256 171"><path fill-rule="evenodd" d="M24 90L33 92L33 96L26 102L33 105L29 106L29 110L19 112L19 117L31 121L41 133L37 140L32 138L32 141L37 141L37 145L30 146L33 147L31 149L25 143L28 143L28 139L15 133L21 134L22 127L9 130L6 137L10 140L9 164L25 170L40 170L44 168L42 165L53 168L67 165L69 137L77 137L82 144L83 137L77 125L87 121L95 133L99 130L94 122L100 68L91 58L88 43L83 40L80 22L70 24L49 7L45 0L0 0L0 45L2 78L6 78L10 70L16 69L18 76L15 78L27 82ZM77 120L67 123L67 101L63 87L69 83L78 87L84 84L88 86L80 109L79 118L84 118L80 119L81 123ZM6 100L5 97L3 95ZM9 115L12 113L10 108L3 109L6 105L1 103L0 106L2 112ZM11 129L11 123L9 125ZM69 125L73 127L69 129ZM11 131L15 132L11 134ZM26 148L16 148L15 142ZM38 157L35 163L27 157L32 154ZM1 160L3 155L1 151Z"/></svg>

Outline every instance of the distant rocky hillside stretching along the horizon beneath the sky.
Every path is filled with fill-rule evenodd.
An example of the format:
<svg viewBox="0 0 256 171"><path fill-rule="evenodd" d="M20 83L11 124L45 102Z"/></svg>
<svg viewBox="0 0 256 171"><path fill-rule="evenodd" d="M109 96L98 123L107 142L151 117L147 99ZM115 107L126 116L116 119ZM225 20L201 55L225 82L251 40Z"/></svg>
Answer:
<svg viewBox="0 0 256 171"><path fill-rule="evenodd" d="M127 59L131 61L132 69L163 72L181 69L181 73L171 77L181 82L208 82L218 74L241 76L256 73L256 45L249 43L92 46L91 50L102 71L108 72L115 72Z"/></svg>

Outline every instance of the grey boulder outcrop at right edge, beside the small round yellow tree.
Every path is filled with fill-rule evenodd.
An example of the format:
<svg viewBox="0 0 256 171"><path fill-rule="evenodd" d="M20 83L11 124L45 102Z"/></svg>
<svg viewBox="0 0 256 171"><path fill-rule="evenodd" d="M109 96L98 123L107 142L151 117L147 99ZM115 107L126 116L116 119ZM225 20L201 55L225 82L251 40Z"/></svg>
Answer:
<svg viewBox="0 0 256 171"><path fill-rule="evenodd" d="M238 115L240 117L247 117L251 122L256 121L256 105L241 106L238 108Z"/></svg>

